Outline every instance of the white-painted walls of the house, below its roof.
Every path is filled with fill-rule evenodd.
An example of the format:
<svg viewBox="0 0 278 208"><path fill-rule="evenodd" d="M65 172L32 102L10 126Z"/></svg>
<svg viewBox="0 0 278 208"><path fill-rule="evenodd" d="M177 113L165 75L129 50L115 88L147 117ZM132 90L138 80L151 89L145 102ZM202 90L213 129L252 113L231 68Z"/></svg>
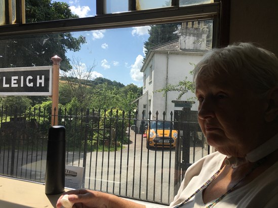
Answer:
<svg viewBox="0 0 278 208"><path fill-rule="evenodd" d="M148 97L149 99L151 98L151 106L149 109L152 112L151 119L156 119L156 111L159 113L158 119L163 119L163 112L165 111L165 119L170 120L171 111L174 113L174 110L182 110L182 108L175 108L174 103L172 102L172 100L177 99L179 92L171 91L168 92L166 96L163 96L163 92L154 91L164 88L167 81L169 84L173 85L178 84L179 81L184 80L185 77L187 77L189 81L192 81L192 75L189 73L194 68L192 64L198 63L203 55L204 53L167 53L155 51L152 61L147 64L145 69L147 75L146 87L143 90L143 93L148 91ZM153 75L152 81L149 82L148 76L151 65L153 68ZM181 100L188 100L192 97L194 97L194 93L188 92L186 95L182 96ZM191 110L197 110L197 103L192 106Z"/></svg>

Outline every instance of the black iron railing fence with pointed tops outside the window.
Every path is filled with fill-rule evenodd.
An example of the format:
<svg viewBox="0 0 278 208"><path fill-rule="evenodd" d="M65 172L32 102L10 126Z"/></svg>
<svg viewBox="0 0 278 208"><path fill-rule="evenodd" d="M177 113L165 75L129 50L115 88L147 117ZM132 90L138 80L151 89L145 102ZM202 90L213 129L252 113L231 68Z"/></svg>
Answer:
<svg viewBox="0 0 278 208"><path fill-rule="evenodd" d="M2 107L0 175L45 182L51 118L50 109L21 111ZM182 178L181 171L175 170L183 167L177 159L182 150L177 146L146 148L146 132L138 133L136 126L140 128L141 124L142 128L143 124L156 121L150 119L151 113L148 118L142 115L143 119L137 119L138 112L65 108L59 109L57 115L55 112L54 118L66 128L66 165L85 170L84 188L161 204L173 200L178 188L176 181ZM181 121L174 121L172 113L170 122L177 128L183 126L178 125ZM208 153L193 134L183 138L182 130L177 131L178 139L190 140L190 163Z"/></svg>

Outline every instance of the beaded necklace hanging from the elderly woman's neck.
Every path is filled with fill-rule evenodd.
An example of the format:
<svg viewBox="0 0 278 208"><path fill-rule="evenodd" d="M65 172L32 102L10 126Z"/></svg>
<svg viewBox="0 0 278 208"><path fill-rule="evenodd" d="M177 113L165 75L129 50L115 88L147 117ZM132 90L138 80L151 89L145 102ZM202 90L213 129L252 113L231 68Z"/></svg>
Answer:
<svg viewBox="0 0 278 208"><path fill-rule="evenodd" d="M239 180L238 182L236 182L226 193L224 193L223 195L221 195L219 198L217 198L214 202L212 202L210 205L206 206L206 208L211 208L214 207L219 201L221 201L226 195L228 195L230 192L233 191L233 189L240 183L243 181L243 179L245 179L249 174L251 174L257 167L259 167L266 158L259 160L253 167L252 169L245 174L245 176ZM223 165L218 171L216 171L215 174L213 174L213 176L207 180L200 188L198 188L191 196L189 196L186 200L184 200L181 204L179 204L176 207L181 207L183 206L186 202L188 202L193 196L195 196L198 192L200 192L201 190L203 190L204 188L206 188L220 173L220 171L225 167L226 165Z"/></svg>

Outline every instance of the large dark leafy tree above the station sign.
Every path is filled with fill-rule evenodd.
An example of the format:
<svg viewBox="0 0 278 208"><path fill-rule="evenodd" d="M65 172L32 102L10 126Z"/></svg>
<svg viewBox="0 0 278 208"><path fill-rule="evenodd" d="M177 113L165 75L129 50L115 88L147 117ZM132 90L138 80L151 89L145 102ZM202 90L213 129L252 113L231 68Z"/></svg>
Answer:
<svg viewBox="0 0 278 208"><path fill-rule="evenodd" d="M26 0L26 22L42 22L57 19L71 19L73 15L69 5L50 0ZM78 51L86 40L83 36L73 37L71 33L50 33L16 36L0 41L2 51L1 68L31 67L52 65L51 58L55 55L63 59L60 68L71 69L70 60L66 57L68 50ZM26 57L29 57L26 59Z"/></svg>

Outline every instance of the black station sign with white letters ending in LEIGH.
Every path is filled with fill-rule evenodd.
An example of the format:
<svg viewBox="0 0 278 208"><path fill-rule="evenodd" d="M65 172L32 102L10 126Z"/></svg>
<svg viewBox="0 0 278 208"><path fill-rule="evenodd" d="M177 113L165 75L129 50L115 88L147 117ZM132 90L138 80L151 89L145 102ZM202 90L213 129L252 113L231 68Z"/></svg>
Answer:
<svg viewBox="0 0 278 208"><path fill-rule="evenodd" d="M52 66L0 69L0 95L52 95Z"/></svg>

